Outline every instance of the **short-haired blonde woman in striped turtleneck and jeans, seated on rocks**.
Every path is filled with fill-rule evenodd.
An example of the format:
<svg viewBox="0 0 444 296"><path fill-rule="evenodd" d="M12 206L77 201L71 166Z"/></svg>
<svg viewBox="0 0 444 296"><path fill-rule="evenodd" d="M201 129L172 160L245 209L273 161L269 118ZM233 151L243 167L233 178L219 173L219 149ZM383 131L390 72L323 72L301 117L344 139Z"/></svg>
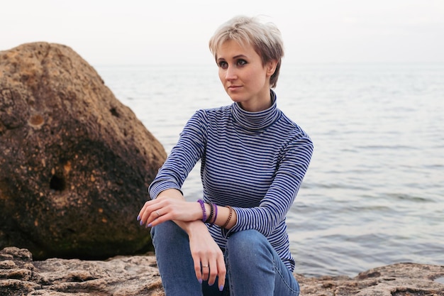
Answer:
<svg viewBox="0 0 444 296"><path fill-rule="evenodd" d="M279 30L236 17L209 47L233 104L189 119L138 220L152 227L167 296L299 295L285 216L313 143L277 109ZM180 190L198 160L203 197L187 202Z"/></svg>

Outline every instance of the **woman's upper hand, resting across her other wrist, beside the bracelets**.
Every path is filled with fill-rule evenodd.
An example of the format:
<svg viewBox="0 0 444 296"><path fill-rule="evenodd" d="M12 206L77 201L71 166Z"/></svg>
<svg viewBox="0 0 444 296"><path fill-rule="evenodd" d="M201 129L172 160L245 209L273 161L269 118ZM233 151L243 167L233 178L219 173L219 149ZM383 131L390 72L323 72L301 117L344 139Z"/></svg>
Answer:
<svg viewBox="0 0 444 296"><path fill-rule="evenodd" d="M195 221L201 219L202 210L197 202L184 199L157 198L145 202L138 214L140 225L156 226L168 220Z"/></svg>

